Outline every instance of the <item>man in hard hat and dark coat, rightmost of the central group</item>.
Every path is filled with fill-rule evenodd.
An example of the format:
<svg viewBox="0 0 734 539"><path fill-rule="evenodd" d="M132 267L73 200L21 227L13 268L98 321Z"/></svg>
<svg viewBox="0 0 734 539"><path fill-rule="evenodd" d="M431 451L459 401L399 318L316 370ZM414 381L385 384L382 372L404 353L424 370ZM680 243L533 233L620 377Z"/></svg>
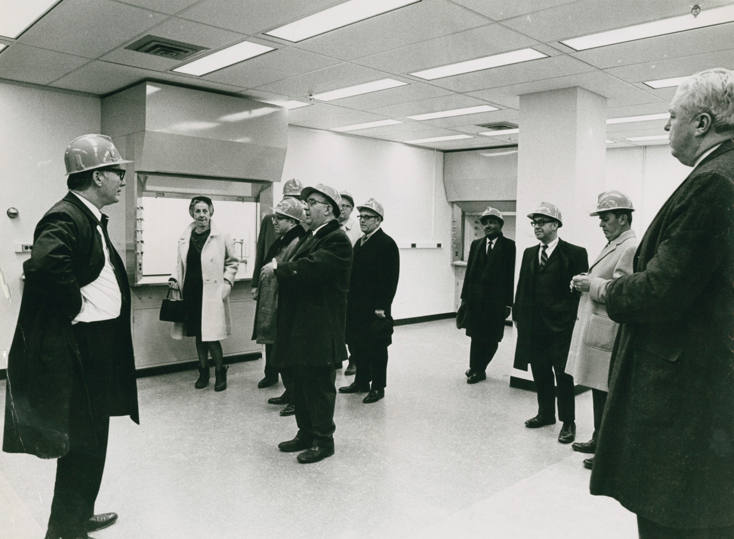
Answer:
<svg viewBox="0 0 734 539"><path fill-rule="evenodd" d="M354 247L346 303L346 343L357 375L339 393L369 391L362 401L369 404L385 397L388 346L393 342L390 306L398 289L400 253L395 241L380 228L385 217L382 204L370 198L357 210L364 236Z"/></svg>

